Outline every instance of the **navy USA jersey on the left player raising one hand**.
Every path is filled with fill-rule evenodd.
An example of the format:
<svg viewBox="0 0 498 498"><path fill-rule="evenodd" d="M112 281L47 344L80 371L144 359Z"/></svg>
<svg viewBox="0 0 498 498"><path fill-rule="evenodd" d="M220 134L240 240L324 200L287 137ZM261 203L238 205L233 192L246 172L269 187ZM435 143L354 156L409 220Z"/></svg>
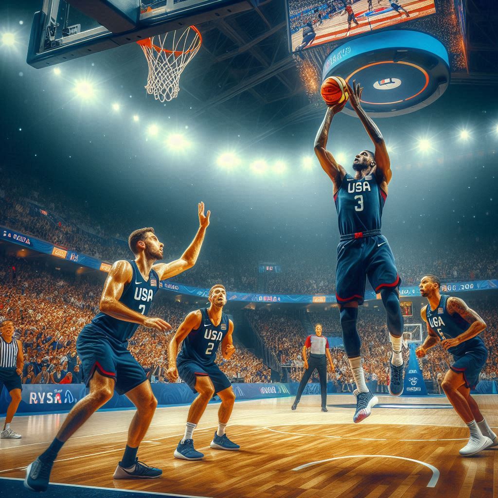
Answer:
<svg viewBox="0 0 498 498"><path fill-rule="evenodd" d="M151 269L149 278L144 281L136 262L133 259L130 259L129 262L133 269L133 275L130 283L126 284L123 289L120 303L133 311L147 315L154 294L159 288L159 275L155 270ZM121 343L130 339L138 328L137 323L125 322L105 313L96 315L92 323Z"/></svg>

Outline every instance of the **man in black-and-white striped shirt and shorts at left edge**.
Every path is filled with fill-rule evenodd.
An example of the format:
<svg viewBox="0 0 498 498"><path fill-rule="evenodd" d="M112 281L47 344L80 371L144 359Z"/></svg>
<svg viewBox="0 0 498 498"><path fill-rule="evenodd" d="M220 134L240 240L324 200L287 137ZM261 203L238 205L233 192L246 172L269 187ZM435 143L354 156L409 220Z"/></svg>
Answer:
<svg viewBox="0 0 498 498"><path fill-rule="evenodd" d="M0 439L20 439L21 435L10 428L10 422L21 402L20 375L24 363L22 343L19 339L14 339L14 324L10 320L4 320L0 324L0 332L0 393L5 386L10 394L10 403L7 406L3 430L0 431Z"/></svg>

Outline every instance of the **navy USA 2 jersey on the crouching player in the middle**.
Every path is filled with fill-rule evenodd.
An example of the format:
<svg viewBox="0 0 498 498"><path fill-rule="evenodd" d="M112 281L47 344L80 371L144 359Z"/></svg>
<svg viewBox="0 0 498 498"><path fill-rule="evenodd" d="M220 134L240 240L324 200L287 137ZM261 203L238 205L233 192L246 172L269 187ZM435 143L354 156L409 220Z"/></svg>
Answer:
<svg viewBox="0 0 498 498"><path fill-rule="evenodd" d="M208 309L202 308L202 320L197 329L193 329L183 340L178 360L192 360L202 366L214 365L216 352L223 338L228 334L229 318L222 313L218 327L209 318Z"/></svg>

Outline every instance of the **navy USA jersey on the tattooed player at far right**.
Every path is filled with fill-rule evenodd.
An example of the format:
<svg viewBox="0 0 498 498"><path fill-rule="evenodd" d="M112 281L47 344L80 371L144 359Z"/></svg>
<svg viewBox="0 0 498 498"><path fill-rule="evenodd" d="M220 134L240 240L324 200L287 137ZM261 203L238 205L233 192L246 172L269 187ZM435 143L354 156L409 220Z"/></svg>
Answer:
<svg viewBox="0 0 498 498"><path fill-rule="evenodd" d="M441 294L441 300L435 310L431 309L430 304L425 309L427 322L441 341L454 339L470 327L470 323L464 320L459 314L450 315L448 313L446 303L450 297L446 294ZM454 356L463 356L467 351L477 348L486 348L484 341L479 336L448 349L448 352Z"/></svg>

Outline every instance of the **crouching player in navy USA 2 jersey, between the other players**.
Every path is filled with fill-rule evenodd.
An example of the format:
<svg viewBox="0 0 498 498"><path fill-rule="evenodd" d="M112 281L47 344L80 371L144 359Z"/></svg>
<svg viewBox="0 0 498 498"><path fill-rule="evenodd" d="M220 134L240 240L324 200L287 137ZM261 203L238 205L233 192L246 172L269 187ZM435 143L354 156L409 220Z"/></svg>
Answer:
<svg viewBox="0 0 498 498"><path fill-rule="evenodd" d="M232 414L235 393L227 376L215 364L216 352L221 346L225 360L235 353L232 333L234 324L223 313L227 304L227 292L221 284L211 287L208 295L209 308L189 313L182 322L168 348L168 378L175 382L180 378L199 395L190 405L185 435L178 443L174 456L182 460L201 460L204 455L194 448L192 438L202 414L216 393L221 398L218 410L218 429L210 447L218 450L237 451L240 446L228 439L225 429ZM177 356L180 343L182 350Z"/></svg>

